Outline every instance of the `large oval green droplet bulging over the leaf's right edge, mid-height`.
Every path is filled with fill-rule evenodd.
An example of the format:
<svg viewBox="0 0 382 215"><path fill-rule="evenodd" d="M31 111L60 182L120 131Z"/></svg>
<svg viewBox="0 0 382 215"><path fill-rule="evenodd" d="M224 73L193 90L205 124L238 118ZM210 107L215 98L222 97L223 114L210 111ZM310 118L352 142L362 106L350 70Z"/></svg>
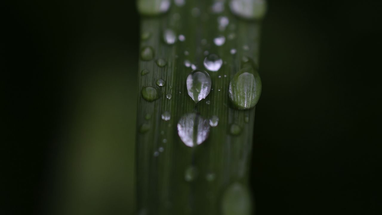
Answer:
<svg viewBox="0 0 382 215"><path fill-rule="evenodd" d="M249 60L244 65L248 64L251 64ZM238 109L253 108L259 101L260 94L261 80L253 66L241 68L230 82L229 96Z"/></svg>

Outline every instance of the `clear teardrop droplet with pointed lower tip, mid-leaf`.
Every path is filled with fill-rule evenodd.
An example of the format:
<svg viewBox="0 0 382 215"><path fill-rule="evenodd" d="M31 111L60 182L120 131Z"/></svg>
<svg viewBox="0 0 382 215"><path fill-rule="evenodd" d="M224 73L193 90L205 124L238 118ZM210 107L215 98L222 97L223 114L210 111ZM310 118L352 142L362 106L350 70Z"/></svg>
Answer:
<svg viewBox="0 0 382 215"><path fill-rule="evenodd" d="M194 100L195 103L206 98L211 90L210 75L202 70L194 70L187 77L187 91L188 95Z"/></svg>

